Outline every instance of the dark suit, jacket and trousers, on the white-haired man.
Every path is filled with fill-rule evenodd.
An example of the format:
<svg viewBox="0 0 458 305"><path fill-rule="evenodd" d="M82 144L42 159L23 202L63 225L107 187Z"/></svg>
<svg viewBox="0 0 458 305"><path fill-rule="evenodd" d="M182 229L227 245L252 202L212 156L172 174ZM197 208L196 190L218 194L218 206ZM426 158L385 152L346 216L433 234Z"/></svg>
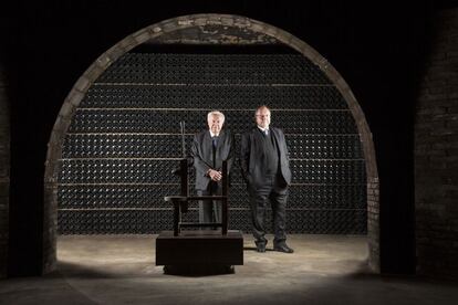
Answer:
<svg viewBox="0 0 458 305"><path fill-rule="evenodd" d="M204 130L194 137L191 155L196 168L196 190L198 196L221 194L221 185L208 176L209 169L221 170L222 161L228 161L228 173L232 166L233 137L229 130L219 133L217 145L209 130ZM221 222L221 206L219 202L199 202L200 222ZM215 214L212 214L212 210Z"/></svg>

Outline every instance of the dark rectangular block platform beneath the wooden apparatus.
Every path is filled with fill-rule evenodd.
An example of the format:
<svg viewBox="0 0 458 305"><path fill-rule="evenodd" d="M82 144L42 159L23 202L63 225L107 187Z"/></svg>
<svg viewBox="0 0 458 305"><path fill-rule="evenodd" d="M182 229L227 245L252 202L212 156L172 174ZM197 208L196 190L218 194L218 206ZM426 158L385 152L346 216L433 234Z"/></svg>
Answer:
<svg viewBox="0 0 458 305"><path fill-rule="evenodd" d="M156 265L242 265L243 236L240 231L164 231L156 239Z"/></svg>

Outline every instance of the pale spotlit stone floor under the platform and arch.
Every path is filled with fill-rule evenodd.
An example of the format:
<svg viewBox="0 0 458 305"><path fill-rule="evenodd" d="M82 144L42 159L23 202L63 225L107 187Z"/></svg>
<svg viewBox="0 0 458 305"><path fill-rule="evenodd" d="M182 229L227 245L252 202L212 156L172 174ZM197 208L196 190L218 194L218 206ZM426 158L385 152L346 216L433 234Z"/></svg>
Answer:
<svg viewBox="0 0 458 305"><path fill-rule="evenodd" d="M0 304L458 304L456 283L371 273L365 236L290 235L284 254L244 235L244 265L207 276L164 274L155 238L60 236L58 271L0 281Z"/></svg>

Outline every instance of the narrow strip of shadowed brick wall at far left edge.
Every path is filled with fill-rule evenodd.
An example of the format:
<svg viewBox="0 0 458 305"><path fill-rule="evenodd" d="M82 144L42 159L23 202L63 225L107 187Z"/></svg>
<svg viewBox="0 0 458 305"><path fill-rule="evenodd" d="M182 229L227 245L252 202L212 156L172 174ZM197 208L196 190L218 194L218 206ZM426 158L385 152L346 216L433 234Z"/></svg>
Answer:
<svg viewBox="0 0 458 305"><path fill-rule="evenodd" d="M10 124L7 82L0 65L0 278L7 276L8 217L10 189Z"/></svg>

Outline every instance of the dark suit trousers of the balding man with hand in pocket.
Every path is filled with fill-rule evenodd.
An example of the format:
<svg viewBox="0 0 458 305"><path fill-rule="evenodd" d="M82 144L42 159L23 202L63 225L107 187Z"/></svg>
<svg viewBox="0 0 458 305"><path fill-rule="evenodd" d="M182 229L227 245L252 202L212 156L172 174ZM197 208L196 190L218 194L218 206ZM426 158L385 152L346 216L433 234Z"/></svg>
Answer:
<svg viewBox="0 0 458 305"><path fill-rule="evenodd" d="M266 179L260 188L253 189L249 186L250 203L251 203L251 222L253 236L256 243L267 243L264 218L267 202L270 201L272 208L273 244L281 244L287 240L285 233L285 215L287 215L287 199L288 199L288 186L275 187L274 177Z"/></svg>

